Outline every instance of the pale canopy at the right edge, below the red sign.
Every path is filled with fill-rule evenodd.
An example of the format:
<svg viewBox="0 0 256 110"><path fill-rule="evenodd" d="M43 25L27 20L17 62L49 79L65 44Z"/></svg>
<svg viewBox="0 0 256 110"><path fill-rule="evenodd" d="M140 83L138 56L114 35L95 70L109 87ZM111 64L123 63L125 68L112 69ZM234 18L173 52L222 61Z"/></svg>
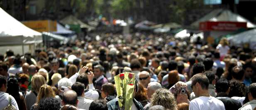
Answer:
<svg viewBox="0 0 256 110"><path fill-rule="evenodd" d="M256 49L256 29L244 31L227 38L231 45L242 46L249 43L251 49Z"/></svg>

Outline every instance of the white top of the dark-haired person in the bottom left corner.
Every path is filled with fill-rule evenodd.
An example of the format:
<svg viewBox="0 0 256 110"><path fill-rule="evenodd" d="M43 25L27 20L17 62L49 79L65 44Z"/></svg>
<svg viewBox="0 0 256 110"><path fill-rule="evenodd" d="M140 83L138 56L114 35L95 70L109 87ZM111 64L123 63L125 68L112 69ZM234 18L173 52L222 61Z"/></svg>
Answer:
<svg viewBox="0 0 256 110"><path fill-rule="evenodd" d="M11 97L12 105L14 105L17 110L19 110L19 107L17 105L15 98L5 92L0 92L0 110L5 108L9 104L9 97Z"/></svg>

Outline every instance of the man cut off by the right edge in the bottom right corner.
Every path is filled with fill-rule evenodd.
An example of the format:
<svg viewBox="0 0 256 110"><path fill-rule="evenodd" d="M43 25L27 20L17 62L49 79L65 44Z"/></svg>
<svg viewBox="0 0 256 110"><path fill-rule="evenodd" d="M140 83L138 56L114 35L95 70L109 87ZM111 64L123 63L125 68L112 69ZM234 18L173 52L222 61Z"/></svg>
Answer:
<svg viewBox="0 0 256 110"><path fill-rule="evenodd" d="M256 108L256 83L251 84L248 90L248 98L250 102L244 104L239 110L255 110Z"/></svg>

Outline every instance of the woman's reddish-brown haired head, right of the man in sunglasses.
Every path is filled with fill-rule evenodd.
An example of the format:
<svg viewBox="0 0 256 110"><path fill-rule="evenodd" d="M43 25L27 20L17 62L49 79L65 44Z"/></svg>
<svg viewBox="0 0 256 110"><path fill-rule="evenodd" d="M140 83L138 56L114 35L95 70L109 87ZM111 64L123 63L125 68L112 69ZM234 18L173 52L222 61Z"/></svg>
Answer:
<svg viewBox="0 0 256 110"><path fill-rule="evenodd" d="M167 88L169 89L180 80L180 77L179 77L179 74L178 74L177 70L172 70L168 74L169 74L168 75L169 86Z"/></svg>

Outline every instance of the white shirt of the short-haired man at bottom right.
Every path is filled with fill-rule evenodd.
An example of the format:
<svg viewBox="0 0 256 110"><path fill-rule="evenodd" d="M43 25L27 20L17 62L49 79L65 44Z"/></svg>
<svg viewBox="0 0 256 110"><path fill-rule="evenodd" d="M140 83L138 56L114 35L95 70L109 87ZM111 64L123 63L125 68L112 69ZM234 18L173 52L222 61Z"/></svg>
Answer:
<svg viewBox="0 0 256 110"><path fill-rule="evenodd" d="M225 106L215 97L200 96L191 100L189 110L225 110Z"/></svg>

